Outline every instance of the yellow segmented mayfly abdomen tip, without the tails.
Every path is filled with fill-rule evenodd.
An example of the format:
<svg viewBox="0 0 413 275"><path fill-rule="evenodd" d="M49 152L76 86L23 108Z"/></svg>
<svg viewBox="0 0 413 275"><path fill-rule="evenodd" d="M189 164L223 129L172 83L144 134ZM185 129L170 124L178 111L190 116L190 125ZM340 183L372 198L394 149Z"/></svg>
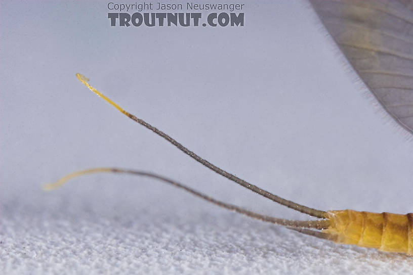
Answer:
<svg viewBox="0 0 413 275"><path fill-rule="evenodd" d="M330 226L325 233L335 241L381 251L413 255L413 213L371 213L354 210L328 211Z"/></svg>

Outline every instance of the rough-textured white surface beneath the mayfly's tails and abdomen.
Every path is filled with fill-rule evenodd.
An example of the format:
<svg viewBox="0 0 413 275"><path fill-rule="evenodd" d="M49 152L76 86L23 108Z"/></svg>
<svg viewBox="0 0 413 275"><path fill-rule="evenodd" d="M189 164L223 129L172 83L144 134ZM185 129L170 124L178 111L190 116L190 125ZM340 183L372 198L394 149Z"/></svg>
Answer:
<svg viewBox="0 0 413 275"><path fill-rule="evenodd" d="M336 245L214 207L69 216L36 208L5 209L5 274L410 274L413 264L406 255Z"/></svg>

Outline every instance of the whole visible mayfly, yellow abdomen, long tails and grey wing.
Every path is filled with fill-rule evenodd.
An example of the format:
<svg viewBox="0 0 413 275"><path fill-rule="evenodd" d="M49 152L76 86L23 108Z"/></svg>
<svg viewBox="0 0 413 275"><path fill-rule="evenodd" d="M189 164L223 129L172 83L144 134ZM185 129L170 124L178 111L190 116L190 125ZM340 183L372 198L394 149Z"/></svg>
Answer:
<svg viewBox="0 0 413 275"><path fill-rule="evenodd" d="M310 0L321 22L382 107L404 129L413 133L413 1L411 0ZM168 134L123 110L89 84L81 74L77 78L121 113L160 135L179 150L214 172L276 203L319 218L287 220L261 215L215 200L169 178L136 170L95 168L69 174L46 189L54 189L67 180L97 172L128 173L152 177L181 188L223 208L255 219L280 224L301 233L342 244L377 248L413 255L413 213L371 213L354 210L321 211L283 199L226 172L199 157Z"/></svg>

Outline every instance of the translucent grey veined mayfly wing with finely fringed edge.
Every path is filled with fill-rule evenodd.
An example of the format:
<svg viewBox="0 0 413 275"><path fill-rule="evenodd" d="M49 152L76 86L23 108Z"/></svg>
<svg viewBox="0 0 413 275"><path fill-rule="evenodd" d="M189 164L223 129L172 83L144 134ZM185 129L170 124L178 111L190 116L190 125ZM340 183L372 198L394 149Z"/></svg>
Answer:
<svg viewBox="0 0 413 275"><path fill-rule="evenodd" d="M413 0L310 0L387 112L413 133Z"/></svg>

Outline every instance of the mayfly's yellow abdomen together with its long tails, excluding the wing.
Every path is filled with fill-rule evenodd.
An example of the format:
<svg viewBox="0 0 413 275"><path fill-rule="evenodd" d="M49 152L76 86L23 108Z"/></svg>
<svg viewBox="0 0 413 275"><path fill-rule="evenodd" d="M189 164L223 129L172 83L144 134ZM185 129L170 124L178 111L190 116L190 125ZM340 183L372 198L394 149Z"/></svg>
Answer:
<svg viewBox="0 0 413 275"><path fill-rule="evenodd" d="M409 255L413 255L413 213L406 215L392 214L392 213L371 213L371 212L359 212L354 210L338 210L338 211L321 211L313 209L298 203L278 197L268 191L265 191L249 182L215 166L211 162L201 158L194 152L187 149L185 146L171 138L168 134L162 132L156 127L150 125L146 121L136 117L135 115L125 111L114 101L103 95L98 89L89 84L89 79L85 76L77 73L77 78L84 83L90 90L96 95L103 98L105 101L114 106L122 114L128 116L130 119L145 126L149 130L155 132L163 139L173 144L179 150L189 155L202 165L210 168L214 172L236 182L244 188L258 193L259 195L266 197L276 203L290 207L296 211L308 214L313 217L320 218L318 220L287 220L281 218L275 218L271 216L261 215L235 205L227 204L222 201L218 201L209 196L206 196L198 191L195 191L179 182L145 171L127 170L118 168L94 168L88 170L77 171L66 175L57 182L45 186L46 190L51 190L62 186L66 181L74 177L98 173L98 172L112 172L112 173L128 173L140 176L146 176L167 182L177 188L181 188L199 198L209 201L213 204L221 206L223 208L250 216L255 219L284 225L293 230L301 233L312 235L318 238L331 240L337 243L352 244L364 247L373 247L382 251L390 252L403 252ZM321 231L317 231L321 230Z"/></svg>

